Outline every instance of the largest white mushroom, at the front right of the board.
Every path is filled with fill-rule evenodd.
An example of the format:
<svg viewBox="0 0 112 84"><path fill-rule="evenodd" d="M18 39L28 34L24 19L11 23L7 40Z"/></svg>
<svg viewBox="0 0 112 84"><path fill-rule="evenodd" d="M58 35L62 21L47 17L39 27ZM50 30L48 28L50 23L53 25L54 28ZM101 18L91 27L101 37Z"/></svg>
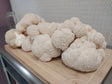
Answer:
<svg viewBox="0 0 112 84"><path fill-rule="evenodd" d="M76 41L62 53L62 60L68 67L82 72L90 72L99 67L104 56L104 50L97 50L94 43L76 39Z"/></svg>

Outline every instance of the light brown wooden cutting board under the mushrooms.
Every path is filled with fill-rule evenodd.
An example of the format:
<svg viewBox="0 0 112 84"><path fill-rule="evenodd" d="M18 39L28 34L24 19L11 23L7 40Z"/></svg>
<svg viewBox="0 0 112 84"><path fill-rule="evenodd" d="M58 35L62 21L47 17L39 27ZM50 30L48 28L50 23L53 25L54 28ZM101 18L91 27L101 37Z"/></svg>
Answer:
<svg viewBox="0 0 112 84"><path fill-rule="evenodd" d="M51 62L39 61L31 52L13 49L6 45L5 49L36 77L50 84L100 84L112 67L112 50L106 49L106 56L99 68L90 73L82 73L66 67L60 58Z"/></svg>

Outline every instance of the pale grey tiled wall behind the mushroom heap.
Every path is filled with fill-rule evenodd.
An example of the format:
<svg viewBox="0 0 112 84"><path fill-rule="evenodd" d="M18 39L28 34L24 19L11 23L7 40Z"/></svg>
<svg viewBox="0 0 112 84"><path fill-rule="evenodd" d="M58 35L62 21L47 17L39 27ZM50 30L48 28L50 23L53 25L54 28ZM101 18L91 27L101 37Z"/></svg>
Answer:
<svg viewBox="0 0 112 84"><path fill-rule="evenodd" d="M18 21L33 12L51 22L77 16L106 37L112 45L112 0L10 0Z"/></svg>

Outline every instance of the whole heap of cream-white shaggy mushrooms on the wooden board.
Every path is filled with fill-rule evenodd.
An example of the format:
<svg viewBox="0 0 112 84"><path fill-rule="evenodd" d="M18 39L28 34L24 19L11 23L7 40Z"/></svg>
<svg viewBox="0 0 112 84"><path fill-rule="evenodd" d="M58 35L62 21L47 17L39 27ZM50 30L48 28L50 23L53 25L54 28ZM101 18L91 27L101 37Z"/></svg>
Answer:
<svg viewBox="0 0 112 84"><path fill-rule="evenodd" d="M102 62L106 48L104 36L73 17L63 23L48 23L35 14L26 14L5 34L13 48L31 51L41 61L61 56L63 63L75 70L90 72Z"/></svg>

